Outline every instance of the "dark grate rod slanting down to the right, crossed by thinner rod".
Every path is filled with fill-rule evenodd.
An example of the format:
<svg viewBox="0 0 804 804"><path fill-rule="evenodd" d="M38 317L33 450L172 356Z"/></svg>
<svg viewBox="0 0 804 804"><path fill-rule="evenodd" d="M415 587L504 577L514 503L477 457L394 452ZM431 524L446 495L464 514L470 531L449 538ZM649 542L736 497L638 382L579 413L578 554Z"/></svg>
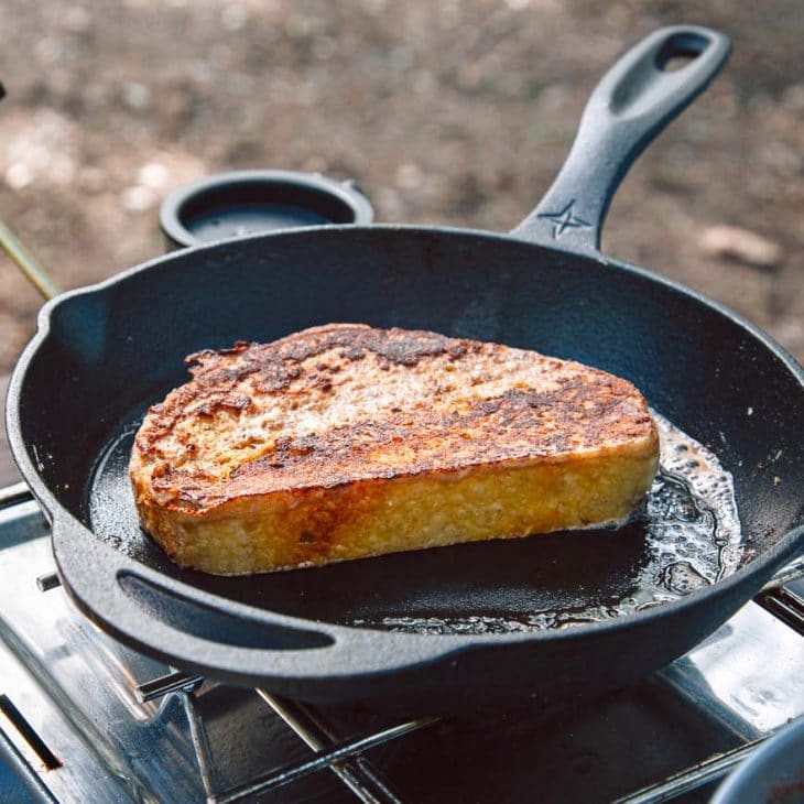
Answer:
<svg viewBox="0 0 804 804"><path fill-rule="evenodd" d="M323 751L336 742L333 731L309 707L296 700L271 695L264 689L258 689L257 694L314 751ZM365 804L402 804L399 794L367 759L356 758L349 762L334 762L329 768Z"/></svg>

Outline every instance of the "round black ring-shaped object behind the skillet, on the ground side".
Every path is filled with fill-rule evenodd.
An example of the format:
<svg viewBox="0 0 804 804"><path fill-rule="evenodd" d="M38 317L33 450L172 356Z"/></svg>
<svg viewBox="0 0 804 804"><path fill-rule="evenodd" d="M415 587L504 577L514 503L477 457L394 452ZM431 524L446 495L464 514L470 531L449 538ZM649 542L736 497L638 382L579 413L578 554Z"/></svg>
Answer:
<svg viewBox="0 0 804 804"><path fill-rule="evenodd" d="M186 185L160 208L169 250L263 231L368 225L374 210L354 181L294 171L236 171Z"/></svg>

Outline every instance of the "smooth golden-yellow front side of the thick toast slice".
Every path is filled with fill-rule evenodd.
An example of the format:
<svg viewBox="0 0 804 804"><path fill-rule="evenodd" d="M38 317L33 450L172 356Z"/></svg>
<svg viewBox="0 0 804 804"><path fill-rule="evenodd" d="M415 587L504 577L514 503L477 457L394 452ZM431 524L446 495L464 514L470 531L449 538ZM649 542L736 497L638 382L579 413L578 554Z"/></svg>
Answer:
<svg viewBox="0 0 804 804"><path fill-rule="evenodd" d="M239 575L621 522L655 470L641 444L557 463L241 497L203 517L144 502L140 515L176 563Z"/></svg>

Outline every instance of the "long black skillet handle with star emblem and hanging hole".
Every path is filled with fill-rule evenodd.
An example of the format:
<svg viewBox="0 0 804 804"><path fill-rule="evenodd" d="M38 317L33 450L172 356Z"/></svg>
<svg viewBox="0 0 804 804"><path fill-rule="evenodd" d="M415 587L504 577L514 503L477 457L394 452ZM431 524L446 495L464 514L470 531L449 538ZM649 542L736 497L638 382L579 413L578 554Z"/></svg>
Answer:
<svg viewBox="0 0 804 804"><path fill-rule="evenodd" d="M720 72L730 47L717 31L674 25L628 51L591 94L553 186L511 235L597 251L609 203L628 169ZM692 61L667 70L674 57Z"/></svg>

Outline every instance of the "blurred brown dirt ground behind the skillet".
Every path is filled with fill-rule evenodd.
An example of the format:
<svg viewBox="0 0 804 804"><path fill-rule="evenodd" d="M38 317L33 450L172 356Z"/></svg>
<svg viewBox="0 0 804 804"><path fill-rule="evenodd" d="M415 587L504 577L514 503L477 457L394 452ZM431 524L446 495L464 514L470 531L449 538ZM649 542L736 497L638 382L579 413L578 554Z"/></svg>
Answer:
<svg viewBox="0 0 804 804"><path fill-rule="evenodd" d="M613 59L658 25L704 23L732 37L731 63L627 178L604 248L737 308L802 359L804 8L692 8L4 0L0 217L64 287L160 253L161 198L233 167L356 177L380 220L508 229ZM40 304L2 258L0 373Z"/></svg>

